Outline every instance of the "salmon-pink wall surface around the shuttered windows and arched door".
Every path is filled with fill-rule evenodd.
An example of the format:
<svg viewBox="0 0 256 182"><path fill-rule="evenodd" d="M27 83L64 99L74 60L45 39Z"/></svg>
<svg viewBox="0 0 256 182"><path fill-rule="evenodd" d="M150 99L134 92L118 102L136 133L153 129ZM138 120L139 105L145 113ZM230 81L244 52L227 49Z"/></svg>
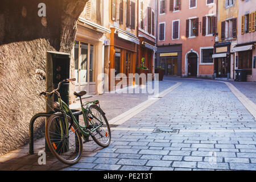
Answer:
<svg viewBox="0 0 256 182"><path fill-rule="evenodd" d="M158 0L159 1L159 0ZM186 38L186 20L192 17L199 18L199 22L203 21L203 16L205 15L214 15L216 16L216 1L211 5L207 5L205 0L197 0L196 8L189 9L189 0L181 1L181 10L172 12L170 11L170 1L166 0L166 13L163 15L159 15L159 7L158 7L158 31L159 31L159 23L165 22L165 40L159 41L159 32L157 35L158 46L162 44L169 43L181 43L182 44L182 74L183 76L187 76L187 53L193 49L199 56L198 59L198 74L199 75L213 75L214 65L200 64L200 47L213 47L214 46L214 36L203 36L199 30L199 36L196 38ZM159 3L158 3L159 6ZM172 40L172 21L179 20L180 21L180 30L179 30L179 39ZM199 26L200 28L200 26Z"/></svg>

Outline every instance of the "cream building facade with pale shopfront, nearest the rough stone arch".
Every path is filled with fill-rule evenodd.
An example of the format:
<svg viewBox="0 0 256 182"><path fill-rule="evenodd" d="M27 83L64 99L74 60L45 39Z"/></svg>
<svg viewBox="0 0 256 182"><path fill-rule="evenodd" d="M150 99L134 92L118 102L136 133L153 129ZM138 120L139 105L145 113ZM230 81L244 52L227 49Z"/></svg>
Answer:
<svg viewBox="0 0 256 182"><path fill-rule="evenodd" d="M102 94L106 34L110 32L104 23L105 0L89 0L77 22L77 34L73 55L75 60L76 91ZM88 95L87 94L87 95Z"/></svg>

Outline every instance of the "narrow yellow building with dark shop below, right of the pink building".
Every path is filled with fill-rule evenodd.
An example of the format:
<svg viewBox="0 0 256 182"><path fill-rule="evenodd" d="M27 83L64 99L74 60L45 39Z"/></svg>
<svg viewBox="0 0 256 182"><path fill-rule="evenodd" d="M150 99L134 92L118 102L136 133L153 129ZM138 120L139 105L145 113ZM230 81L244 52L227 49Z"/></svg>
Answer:
<svg viewBox="0 0 256 182"><path fill-rule="evenodd" d="M214 76L234 78L239 0L218 0L217 34L214 45Z"/></svg>

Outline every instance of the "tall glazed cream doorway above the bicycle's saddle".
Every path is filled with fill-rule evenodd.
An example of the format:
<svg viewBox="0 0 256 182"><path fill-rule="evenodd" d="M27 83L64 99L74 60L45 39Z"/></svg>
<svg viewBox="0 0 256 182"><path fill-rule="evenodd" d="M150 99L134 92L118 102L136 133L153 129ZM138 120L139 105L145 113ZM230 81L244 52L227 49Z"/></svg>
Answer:
<svg viewBox="0 0 256 182"><path fill-rule="evenodd" d="M75 78L76 91L86 90L96 93L96 46L80 41L75 42Z"/></svg>

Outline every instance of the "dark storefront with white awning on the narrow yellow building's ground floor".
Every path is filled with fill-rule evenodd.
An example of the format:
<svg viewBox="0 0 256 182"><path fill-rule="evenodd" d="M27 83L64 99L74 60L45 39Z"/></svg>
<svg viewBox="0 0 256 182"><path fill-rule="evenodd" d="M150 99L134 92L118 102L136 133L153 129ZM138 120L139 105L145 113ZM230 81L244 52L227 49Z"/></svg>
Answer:
<svg viewBox="0 0 256 182"><path fill-rule="evenodd" d="M230 78L231 59L230 59L231 43L220 43L214 46L214 76L217 78Z"/></svg>

